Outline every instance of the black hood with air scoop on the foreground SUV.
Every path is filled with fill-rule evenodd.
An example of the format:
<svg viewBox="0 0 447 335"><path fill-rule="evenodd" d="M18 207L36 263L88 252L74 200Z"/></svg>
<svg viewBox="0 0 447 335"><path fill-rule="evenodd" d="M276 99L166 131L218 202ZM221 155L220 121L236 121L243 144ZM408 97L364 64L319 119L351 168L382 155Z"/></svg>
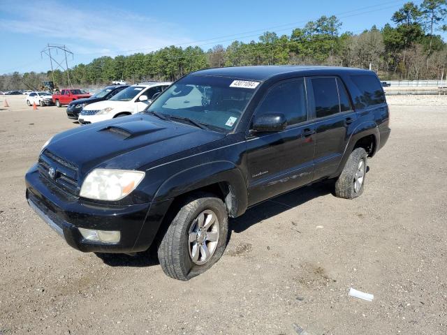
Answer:
<svg viewBox="0 0 447 335"><path fill-rule="evenodd" d="M93 168L142 169L166 156L223 137L221 133L139 113L59 133L46 148L77 165L83 179Z"/></svg>

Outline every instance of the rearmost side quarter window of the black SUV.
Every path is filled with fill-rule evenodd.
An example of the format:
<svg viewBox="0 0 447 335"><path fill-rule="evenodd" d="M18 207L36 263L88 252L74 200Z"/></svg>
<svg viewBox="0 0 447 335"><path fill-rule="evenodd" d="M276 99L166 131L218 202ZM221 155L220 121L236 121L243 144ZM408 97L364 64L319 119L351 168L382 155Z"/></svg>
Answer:
<svg viewBox="0 0 447 335"><path fill-rule="evenodd" d="M351 75L351 80L358 88L358 96L353 96L356 108L366 108L385 103L385 94L374 75Z"/></svg>

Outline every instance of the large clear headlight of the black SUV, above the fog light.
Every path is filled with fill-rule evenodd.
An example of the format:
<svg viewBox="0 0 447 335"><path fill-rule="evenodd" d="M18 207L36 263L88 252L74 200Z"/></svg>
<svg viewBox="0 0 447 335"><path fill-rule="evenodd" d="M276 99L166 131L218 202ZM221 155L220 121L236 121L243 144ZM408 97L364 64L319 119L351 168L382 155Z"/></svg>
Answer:
<svg viewBox="0 0 447 335"><path fill-rule="evenodd" d="M145 172L95 169L82 183L80 196L96 200L121 200L145 177Z"/></svg>

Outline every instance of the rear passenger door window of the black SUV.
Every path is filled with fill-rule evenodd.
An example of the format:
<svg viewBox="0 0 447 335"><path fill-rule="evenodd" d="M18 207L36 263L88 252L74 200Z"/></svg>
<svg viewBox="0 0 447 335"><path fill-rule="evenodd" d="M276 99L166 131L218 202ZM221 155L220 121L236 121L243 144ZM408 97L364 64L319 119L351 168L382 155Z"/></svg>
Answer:
<svg viewBox="0 0 447 335"><path fill-rule="evenodd" d="M328 117L340 112L337 82L335 77L312 79L316 117Z"/></svg>

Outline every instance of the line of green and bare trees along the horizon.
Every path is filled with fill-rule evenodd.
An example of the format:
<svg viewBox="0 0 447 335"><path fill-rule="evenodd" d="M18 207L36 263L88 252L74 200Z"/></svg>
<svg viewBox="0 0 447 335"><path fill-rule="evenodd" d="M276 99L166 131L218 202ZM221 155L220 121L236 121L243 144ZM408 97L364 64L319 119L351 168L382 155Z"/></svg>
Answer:
<svg viewBox="0 0 447 335"><path fill-rule="evenodd" d="M69 71L75 85L176 80L194 70L220 66L272 64L318 64L369 68L382 80L442 79L446 77L447 43L437 31L447 31L447 0L425 0L420 6L405 3L379 29L360 34L339 34L342 22L335 16L322 16L290 35L266 31L257 41L235 40L228 47L165 47L147 54L100 57L79 64ZM13 73L0 77L1 89L38 87L41 80L52 80L47 73ZM54 81L66 86L67 75L54 71Z"/></svg>

